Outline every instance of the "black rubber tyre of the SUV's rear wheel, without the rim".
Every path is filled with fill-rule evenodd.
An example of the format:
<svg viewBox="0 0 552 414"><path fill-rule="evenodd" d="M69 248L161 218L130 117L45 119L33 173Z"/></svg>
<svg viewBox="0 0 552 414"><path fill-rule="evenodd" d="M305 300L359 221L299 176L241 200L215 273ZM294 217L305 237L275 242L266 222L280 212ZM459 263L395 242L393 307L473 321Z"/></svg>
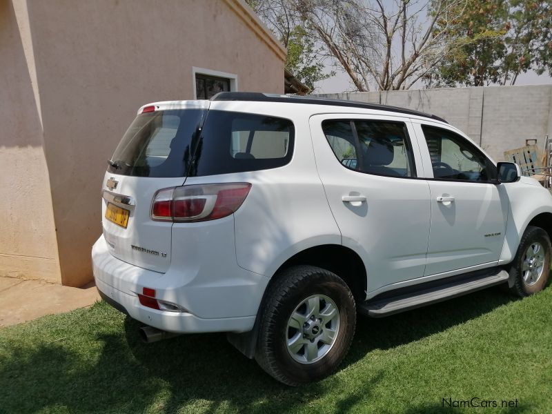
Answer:
<svg viewBox="0 0 552 414"><path fill-rule="evenodd" d="M290 386L322 380L337 369L351 346L357 319L353 294L337 275L315 266L293 266L275 277L277 279L267 293L261 317L255 359L269 375ZM286 341L288 335L293 335L293 328L288 328L288 321L294 311L299 311L300 308L297 307L313 295L325 296L334 302L339 311L339 317L334 317L334 322L339 320L339 328L335 334L335 342L328 351L322 352L320 359L301 363L295 359L300 357L301 351L295 357L288 351ZM319 303L324 305L324 299ZM324 328L326 326L322 325L320 332ZM289 333L290 330L292 334ZM308 340L317 341L317 346L319 344L317 338ZM303 352L306 352L307 345L304 345Z"/></svg>

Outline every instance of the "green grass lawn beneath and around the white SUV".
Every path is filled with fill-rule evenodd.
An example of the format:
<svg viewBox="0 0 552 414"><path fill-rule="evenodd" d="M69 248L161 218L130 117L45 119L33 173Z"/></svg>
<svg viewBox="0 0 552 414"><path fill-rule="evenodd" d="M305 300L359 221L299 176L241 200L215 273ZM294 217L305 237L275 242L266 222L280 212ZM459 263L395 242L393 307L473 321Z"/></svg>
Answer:
<svg viewBox="0 0 552 414"><path fill-rule="evenodd" d="M342 368L288 388L224 334L144 344L139 324L102 302L0 329L0 412L549 414L551 308L552 287L523 300L490 289L359 317ZM498 408L443 408L449 397Z"/></svg>

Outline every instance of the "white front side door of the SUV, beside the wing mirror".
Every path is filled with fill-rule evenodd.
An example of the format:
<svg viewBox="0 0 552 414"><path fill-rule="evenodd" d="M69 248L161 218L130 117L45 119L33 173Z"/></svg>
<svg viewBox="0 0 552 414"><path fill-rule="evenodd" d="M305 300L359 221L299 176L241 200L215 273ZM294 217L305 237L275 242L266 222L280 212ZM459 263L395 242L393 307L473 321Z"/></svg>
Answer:
<svg viewBox="0 0 552 414"><path fill-rule="evenodd" d="M451 128L413 122L431 190L425 275L495 266L509 207L493 162Z"/></svg>

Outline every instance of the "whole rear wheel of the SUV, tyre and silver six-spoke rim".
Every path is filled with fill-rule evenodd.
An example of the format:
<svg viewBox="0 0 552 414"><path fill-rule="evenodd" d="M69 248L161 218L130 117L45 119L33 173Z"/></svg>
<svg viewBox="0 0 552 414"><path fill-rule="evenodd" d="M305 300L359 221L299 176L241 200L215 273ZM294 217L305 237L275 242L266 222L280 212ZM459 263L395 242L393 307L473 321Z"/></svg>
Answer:
<svg viewBox="0 0 552 414"><path fill-rule="evenodd" d="M351 346L353 294L337 275L315 266L293 266L276 277L262 313L255 359L284 384L322 380Z"/></svg>

